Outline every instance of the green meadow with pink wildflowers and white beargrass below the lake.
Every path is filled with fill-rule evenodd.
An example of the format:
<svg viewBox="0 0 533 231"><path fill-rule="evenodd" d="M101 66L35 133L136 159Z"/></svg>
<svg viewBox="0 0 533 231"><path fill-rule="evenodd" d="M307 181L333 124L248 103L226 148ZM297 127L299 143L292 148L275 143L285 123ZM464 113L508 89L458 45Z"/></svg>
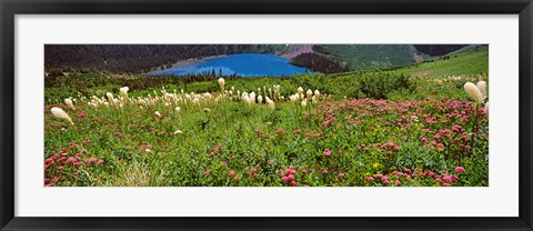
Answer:
<svg viewBox="0 0 533 231"><path fill-rule="evenodd" d="M429 76L61 73L80 87L46 88L43 185L487 187L489 76L449 67L466 58Z"/></svg>

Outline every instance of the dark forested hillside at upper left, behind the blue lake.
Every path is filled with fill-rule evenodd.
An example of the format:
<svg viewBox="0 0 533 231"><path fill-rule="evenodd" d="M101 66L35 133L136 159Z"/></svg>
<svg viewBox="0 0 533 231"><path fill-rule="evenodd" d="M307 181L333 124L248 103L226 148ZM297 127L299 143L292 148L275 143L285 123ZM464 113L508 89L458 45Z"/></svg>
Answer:
<svg viewBox="0 0 533 231"><path fill-rule="evenodd" d="M230 53L274 53L270 44L46 44L44 67L141 73L188 60Z"/></svg>

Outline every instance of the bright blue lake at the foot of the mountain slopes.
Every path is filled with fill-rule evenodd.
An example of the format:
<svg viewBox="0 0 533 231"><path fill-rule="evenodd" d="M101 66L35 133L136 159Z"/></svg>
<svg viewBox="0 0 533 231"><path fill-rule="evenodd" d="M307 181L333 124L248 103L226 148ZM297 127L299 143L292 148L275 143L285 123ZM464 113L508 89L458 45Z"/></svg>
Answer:
<svg viewBox="0 0 533 231"><path fill-rule="evenodd" d="M223 76L237 73L240 77L282 77L301 73L312 73L311 70L289 63L289 59L264 53L238 53L215 58L205 58L180 63L175 67L153 71L152 76L211 72L217 74L222 70Z"/></svg>

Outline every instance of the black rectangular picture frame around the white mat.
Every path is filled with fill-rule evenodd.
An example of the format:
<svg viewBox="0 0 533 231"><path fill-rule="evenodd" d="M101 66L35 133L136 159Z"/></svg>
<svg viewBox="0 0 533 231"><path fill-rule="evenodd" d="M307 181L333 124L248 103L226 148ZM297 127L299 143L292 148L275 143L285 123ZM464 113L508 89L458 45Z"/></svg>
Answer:
<svg viewBox="0 0 533 231"><path fill-rule="evenodd" d="M533 230L531 0L0 0L1 230ZM27 218L14 217L16 14L519 14L520 215L517 218ZM104 208L102 208L104 209Z"/></svg>

